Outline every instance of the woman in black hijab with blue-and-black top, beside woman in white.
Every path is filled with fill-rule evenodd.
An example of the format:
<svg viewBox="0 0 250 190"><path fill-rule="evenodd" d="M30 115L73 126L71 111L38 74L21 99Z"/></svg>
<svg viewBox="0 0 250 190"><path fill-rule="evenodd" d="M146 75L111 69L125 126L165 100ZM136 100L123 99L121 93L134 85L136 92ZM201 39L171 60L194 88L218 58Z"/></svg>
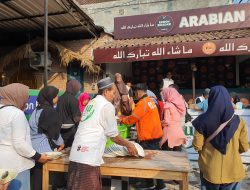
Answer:
<svg viewBox="0 0 250 190"><path fill-rule="evenodd" d="M58 101L59 90L54 86L44 87L38 94L38 106L33 111L29 123L33 148L39 152L61 151L64 148L60 135L62 122L54 105ZM42 164L36 163L31 170L31 188L42 189Z"/></svg>

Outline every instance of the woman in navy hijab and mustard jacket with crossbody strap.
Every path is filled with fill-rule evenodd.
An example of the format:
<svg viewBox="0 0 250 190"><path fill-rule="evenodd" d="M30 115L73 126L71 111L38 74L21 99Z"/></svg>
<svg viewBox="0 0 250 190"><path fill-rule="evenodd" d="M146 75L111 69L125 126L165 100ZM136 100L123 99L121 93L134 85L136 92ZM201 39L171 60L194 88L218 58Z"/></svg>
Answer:
<svg viewBox="0 0 250 190"><path fill-rule="evenodd" d="M245 122L223 86L211 88L208 110L193 122L193 147L199 153L202 190L240 190L245 170L240 153L249 149Z"/></svg>

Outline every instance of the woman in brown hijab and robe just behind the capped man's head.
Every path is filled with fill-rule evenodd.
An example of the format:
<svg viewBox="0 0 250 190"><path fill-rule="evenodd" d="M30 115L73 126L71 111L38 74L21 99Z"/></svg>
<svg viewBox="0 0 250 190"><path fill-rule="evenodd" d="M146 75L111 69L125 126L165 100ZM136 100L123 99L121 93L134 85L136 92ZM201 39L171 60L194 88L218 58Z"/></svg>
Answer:
<svg viewBox="0 0 250 190"><path fill-rule="evenodd" d="M115 99L114 105L116 108L116 114L121 113L122 115L130 115L132 108L128 98L128 89L122 80L122 75L120 73L115 74Z"/></svg>

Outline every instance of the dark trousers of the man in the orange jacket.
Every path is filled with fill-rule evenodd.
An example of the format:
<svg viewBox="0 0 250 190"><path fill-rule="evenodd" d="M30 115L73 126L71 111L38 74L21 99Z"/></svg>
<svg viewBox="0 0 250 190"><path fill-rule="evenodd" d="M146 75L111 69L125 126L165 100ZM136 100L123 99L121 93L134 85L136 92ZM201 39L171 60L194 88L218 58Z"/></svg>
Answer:
<svg viewBox="0 0 250 190"><path fill-rule="evenodd" d="M141 141L139 144L142 146L145 150L160 150L160 139L154 139L154 140L147 140L147 141ZM148 184L154 184L153 179L147 179L146 180ZM164 187L165 183L162 179L156 180L156 185L158 187Z"/></svg>

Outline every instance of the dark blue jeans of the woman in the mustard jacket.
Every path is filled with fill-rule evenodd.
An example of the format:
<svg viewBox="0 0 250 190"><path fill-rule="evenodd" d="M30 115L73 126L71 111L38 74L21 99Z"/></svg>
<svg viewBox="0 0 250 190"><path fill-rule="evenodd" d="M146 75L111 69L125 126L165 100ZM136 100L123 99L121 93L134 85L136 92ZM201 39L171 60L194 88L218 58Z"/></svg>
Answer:
<svg viewBox="0 0 250 190"><path fill-rule="evenodd" d="M202 173L201 178L201 190L240 190L241 183L227 183L227 184L213 184L203 178Z"/></svg>

